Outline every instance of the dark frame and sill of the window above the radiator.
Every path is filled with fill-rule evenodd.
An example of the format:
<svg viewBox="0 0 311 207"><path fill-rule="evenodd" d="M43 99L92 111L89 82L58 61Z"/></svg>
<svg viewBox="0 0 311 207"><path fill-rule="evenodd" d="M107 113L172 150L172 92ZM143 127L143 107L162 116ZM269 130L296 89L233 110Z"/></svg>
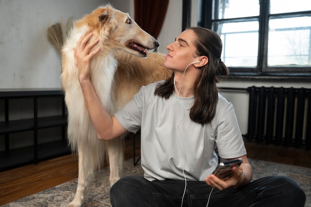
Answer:
<svg viewBox="0 0 311 207"><path fill-rule="evenodd" d="M183 3L191 0L184 0ZM268 45L268 22L269 18L289 18L311 15L311 11L291 12L282 14L269 14L269 0L260 1L260 15L251 17L241 17L232 19L213 19L213 0L201 0L201 16L198 26L212 29L212 25L217 23L232 23L241 21L256 20L259 22L259 40L258 40L258 59L257 67L230 67L229 78L248 78L248 79L311 79L311 67L268 67L267 66L267 45ZM200 9L198 8L198 9ZM216 9L215 9L216 10ZM185 18L183 10L183 19ZM189 14L188 18L189 18ZM215 16L218 16L216 13Z"/></svg>

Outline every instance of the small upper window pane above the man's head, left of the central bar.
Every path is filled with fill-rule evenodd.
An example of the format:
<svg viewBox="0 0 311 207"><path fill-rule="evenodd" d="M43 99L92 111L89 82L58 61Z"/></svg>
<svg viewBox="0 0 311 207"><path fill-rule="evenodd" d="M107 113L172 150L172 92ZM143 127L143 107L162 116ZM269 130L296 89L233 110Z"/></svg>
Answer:
<svg viewBox="0 0 311 207"><path fill-rule="evenodd" d="M259 16L259 0L217 0L217 1L219 2L218 5L219 19ZM215 5L215 0L213 1L213 4Z"/></svg>

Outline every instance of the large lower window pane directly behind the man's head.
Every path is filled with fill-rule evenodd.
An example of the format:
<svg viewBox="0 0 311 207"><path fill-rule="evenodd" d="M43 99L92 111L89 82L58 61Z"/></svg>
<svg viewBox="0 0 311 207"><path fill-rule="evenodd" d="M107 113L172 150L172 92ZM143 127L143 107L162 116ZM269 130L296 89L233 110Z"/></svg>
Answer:
<svg viewBox="0 0 311 207"><path fill-rule="evenodd" d="M256 67L258 55L257 21L218 24L223 41L222 61L228 67Z"/></svg>

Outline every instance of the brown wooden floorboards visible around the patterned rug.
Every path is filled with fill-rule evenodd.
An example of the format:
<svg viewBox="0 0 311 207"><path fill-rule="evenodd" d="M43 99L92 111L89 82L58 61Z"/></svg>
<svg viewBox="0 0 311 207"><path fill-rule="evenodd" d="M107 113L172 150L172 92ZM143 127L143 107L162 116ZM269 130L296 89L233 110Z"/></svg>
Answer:
<svg viewBox="0 0 311 207"><path fill-rule="evenodd" d="M311 150L248 141L245 145L249 158L311 168ZM125 140L125 149L125 159L133 159L133 137ZM0 172L0 206L77 177L78 159L72 154Z"/></svg>

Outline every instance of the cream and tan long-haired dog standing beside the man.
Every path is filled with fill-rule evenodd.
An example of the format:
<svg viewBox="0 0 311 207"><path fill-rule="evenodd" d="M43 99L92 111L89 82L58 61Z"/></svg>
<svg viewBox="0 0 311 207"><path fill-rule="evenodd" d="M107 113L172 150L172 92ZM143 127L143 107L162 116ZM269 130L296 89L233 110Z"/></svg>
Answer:
<svg viewBox="0 0 311 207"><path fill-rule="evenodd" d="M62 87L68 108L68 138L73 151L78 151L78 186L74 200L68 207L80 207L85 189L94 172L109 156L110 184L121 176L123 168L123 138L99 140L85 108L78 81L74 48L80 36L93 33L99 38L100 52L91 60L91 81L107 110L113 115L121 109L143 85L167 79L171 72L163 67L164 56L149 53L158 42L142 30L128 14L111 5L98 7L76 21L62 50ZM131 47L133 46L133 47ZM120 52L122 51L122 52Z"/></svg>

